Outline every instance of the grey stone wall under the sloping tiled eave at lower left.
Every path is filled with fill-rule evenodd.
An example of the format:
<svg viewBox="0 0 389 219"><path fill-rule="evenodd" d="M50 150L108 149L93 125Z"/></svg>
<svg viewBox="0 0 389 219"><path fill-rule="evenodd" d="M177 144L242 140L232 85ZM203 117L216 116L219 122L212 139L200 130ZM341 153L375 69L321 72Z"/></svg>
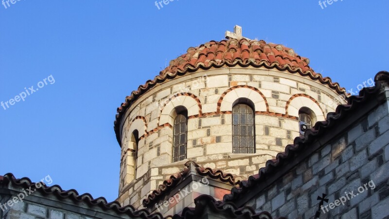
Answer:
<svg viewBox="0 0 389 219"><path fill-rule="evenodd" d="M91 204L88 197L83 201L76 201L69 192L68 198L58 199L57 195L35 191L33 193L19 187L0 185L0 219L141 219L131 217L113 208L102 207L102 200L98 205ZM18 199L23 191L29 194L24 199ZM145 218L145 217L143 217Z"/></svg>

